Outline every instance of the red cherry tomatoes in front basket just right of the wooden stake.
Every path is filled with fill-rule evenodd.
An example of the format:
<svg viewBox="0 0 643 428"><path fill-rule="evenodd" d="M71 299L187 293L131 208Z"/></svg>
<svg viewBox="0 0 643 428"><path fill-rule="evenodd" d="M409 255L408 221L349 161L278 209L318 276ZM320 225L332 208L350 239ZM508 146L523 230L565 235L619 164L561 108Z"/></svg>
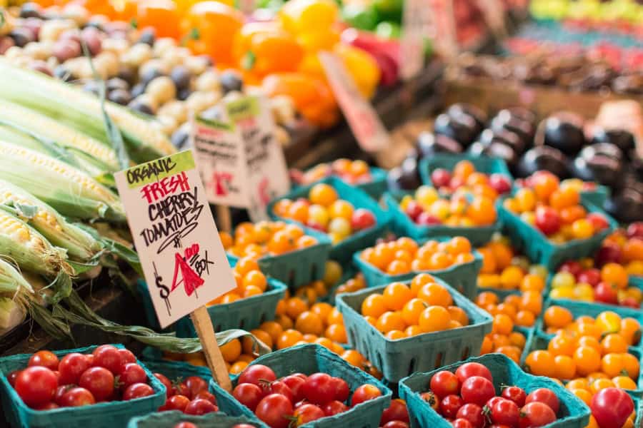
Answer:
<svg viewBox="0 0 643 428"><path fill-rule="evenodd" d="M351 394L344 379L326 373L293 373L277 379L270 367L251 365L239 375L232 395L269 427L287 428L347 412L382 392L363 384Z"/></svg>

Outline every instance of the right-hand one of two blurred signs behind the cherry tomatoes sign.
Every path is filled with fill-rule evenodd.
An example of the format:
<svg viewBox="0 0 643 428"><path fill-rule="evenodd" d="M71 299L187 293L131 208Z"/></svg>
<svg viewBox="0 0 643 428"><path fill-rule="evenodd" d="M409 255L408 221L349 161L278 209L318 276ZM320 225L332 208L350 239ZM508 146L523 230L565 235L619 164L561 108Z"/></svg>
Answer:
<svg viewBox="0 0 643 428"><path fill-rule="evenodd" d="M241 136L248 191L246 208L254 222L268 220L266 206L290 190L284 152L274 135L274 121L264 98L245 96L226 103L229 120Z"/></svg>

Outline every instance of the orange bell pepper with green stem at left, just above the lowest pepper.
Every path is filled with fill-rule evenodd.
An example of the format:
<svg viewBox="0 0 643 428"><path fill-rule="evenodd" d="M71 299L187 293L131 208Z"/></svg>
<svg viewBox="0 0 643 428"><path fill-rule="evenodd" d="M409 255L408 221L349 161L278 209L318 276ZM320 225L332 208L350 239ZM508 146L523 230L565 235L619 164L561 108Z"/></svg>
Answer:
<svg viewBox="0 0 643 428"><path fill-rule="evenodd" d="M304 57L293 36L266 23L246 24L235 37L234 52L237 66L259 77L296 71Z"/></svg>

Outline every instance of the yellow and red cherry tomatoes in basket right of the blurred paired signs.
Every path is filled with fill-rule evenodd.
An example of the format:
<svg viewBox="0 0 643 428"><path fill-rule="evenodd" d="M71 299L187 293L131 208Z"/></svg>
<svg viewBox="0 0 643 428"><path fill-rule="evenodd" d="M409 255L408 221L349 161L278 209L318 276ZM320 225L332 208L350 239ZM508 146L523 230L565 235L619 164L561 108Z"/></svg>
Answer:
<svg viewBox="0 0 643 428"><path fill-rule="evenodd" d="M277 201L274 213L327 233L333 243L339 243L377 223L371 210L355 208L349 201L340 199L332 185L325 183L313 185L307 199Z"/></svg>

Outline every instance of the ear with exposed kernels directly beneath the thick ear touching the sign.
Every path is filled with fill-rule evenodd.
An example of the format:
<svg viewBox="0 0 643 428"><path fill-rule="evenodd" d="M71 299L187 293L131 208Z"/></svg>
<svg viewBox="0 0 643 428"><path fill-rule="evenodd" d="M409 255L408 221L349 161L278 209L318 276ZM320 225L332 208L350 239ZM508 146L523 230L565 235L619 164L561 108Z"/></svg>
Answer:
<svg viewBox="0 0 643 428"><path fill-rule="evenodd" d="M0 204L15 208L22 220L38 230L50 243L67 250L73 260L87 261L101 250L89 233L68 223L59 213L31 193L0 180ZM31 213L27 213L31 210Z"/></svg>

